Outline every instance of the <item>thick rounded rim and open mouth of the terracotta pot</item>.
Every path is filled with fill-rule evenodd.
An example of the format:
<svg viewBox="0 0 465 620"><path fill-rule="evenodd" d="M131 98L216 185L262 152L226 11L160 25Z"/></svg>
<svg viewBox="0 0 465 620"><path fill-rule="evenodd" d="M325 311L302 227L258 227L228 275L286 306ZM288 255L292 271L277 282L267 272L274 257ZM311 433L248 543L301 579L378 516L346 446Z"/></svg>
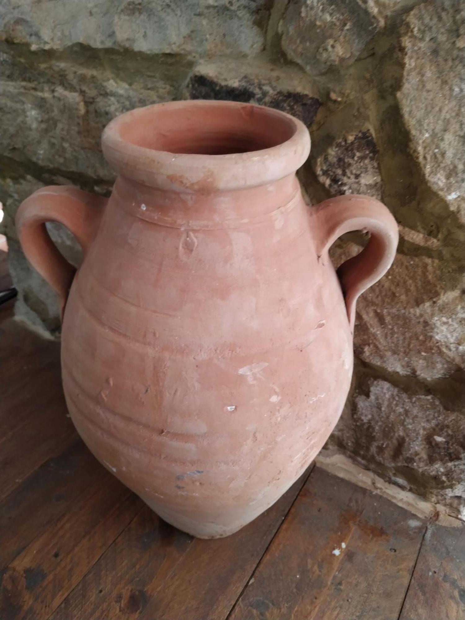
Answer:
<svg viewBox="0 0 465 620"><path fill-rule="evenodd" d="M310 136L301 121L273 108L177 101L115 118L104 130L102 150L118 174L143 185L209 193L292 174L308 157Z"/></svg>

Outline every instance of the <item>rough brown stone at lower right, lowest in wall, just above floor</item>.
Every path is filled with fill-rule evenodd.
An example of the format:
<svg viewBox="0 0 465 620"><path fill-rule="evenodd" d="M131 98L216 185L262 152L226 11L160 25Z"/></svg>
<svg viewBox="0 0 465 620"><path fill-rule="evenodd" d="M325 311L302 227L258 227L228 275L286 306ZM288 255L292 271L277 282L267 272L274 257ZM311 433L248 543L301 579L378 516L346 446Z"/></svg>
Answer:
<svg viewBox="0 0 465 620"><path fill-rule="evenodd" d="M415 387L368 379L330 438L385 479L465 516L465 417Z"/></svg>

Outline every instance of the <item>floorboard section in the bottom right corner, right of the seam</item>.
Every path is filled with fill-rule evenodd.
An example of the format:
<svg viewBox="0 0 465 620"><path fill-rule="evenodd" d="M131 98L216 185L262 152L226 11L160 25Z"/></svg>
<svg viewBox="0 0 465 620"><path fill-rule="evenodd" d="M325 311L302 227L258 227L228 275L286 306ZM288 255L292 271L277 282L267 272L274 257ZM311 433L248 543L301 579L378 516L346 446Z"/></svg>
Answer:
<svg viewBox="0 0 465 620"><path fill-rule="evenodd" d="M430 525L400 620L464 620L465 528Z"/></svg>

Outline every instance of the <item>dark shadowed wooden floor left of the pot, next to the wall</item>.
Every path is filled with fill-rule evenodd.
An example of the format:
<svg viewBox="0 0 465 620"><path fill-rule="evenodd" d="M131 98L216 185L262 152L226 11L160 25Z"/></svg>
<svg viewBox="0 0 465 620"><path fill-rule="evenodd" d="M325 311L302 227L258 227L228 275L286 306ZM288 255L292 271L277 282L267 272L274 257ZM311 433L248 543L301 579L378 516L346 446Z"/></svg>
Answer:
<svg viewBox="0 0 465 620"><path fill-rule="evenodd" d="M77 437L66 417L58 343L32 334L11 313L0 314L0 499Z"/></svg>

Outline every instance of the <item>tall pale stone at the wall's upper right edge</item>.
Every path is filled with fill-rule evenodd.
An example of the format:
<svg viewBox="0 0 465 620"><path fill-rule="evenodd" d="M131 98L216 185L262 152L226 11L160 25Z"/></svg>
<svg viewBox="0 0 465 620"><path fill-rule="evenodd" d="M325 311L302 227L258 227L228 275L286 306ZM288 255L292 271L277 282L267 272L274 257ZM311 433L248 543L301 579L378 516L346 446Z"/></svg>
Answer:
<svg viewBox="0 0 465 620"><path fill-rule="evenodd" d="M407 15L399 104L425 179L465 223L465 5L425 2Z"/></svg>

